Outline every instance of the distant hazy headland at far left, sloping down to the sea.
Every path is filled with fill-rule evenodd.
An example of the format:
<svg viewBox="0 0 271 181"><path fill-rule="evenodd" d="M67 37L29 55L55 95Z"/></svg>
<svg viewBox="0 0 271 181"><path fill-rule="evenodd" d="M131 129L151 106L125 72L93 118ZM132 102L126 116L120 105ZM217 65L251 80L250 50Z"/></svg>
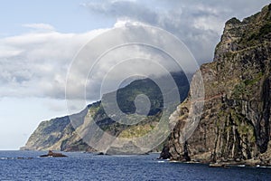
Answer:
<svg viewBox="0 0 271 181"><path fill-rule="evenodd" d="M34 130L23 150L91 150L89 146L82 142L70 122L70 118L83 122L88 109L82 110L78 114L42 121Z"/></svg>

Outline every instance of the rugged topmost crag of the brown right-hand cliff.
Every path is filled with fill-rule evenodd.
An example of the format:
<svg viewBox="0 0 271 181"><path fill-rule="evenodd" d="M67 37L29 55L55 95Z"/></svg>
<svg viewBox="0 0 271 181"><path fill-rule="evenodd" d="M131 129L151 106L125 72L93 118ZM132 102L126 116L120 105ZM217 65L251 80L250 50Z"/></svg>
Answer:
<svg viewBox="0 0 271 181"><path fill-rule="evenodd" d="M269 42L271 42L271 4L242 22L235 17L231 18L225 24L221 41L215 50L214 61L223 61L229 52Z"/></svg>

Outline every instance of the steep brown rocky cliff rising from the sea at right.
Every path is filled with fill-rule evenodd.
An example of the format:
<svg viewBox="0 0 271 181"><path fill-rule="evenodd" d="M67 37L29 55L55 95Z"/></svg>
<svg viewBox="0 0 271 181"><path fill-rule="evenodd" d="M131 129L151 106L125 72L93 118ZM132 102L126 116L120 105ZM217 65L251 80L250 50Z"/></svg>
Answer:
<svg viewBox="0 0 271 181"><path fill-rule="evenodd" d="M173 113L173 160L271 165L271 5L240 22L229 20L214 62L201 65L204 109L183 141L190 99ZM193 83L193 82L192 82Z"/></svg>

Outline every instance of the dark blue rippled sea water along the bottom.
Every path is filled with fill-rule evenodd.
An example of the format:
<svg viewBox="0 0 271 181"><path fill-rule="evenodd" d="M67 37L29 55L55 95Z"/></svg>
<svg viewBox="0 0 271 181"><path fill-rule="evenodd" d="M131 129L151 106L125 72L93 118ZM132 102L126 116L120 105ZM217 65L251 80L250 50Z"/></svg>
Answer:
<svg viewBox="0 0 271 181"><path fill-rule="evenodd" d="M0 151L0 180L271 180L271 168L170 163L157 160L158 154L38 157L42 154L46 153Z"/></svg>

